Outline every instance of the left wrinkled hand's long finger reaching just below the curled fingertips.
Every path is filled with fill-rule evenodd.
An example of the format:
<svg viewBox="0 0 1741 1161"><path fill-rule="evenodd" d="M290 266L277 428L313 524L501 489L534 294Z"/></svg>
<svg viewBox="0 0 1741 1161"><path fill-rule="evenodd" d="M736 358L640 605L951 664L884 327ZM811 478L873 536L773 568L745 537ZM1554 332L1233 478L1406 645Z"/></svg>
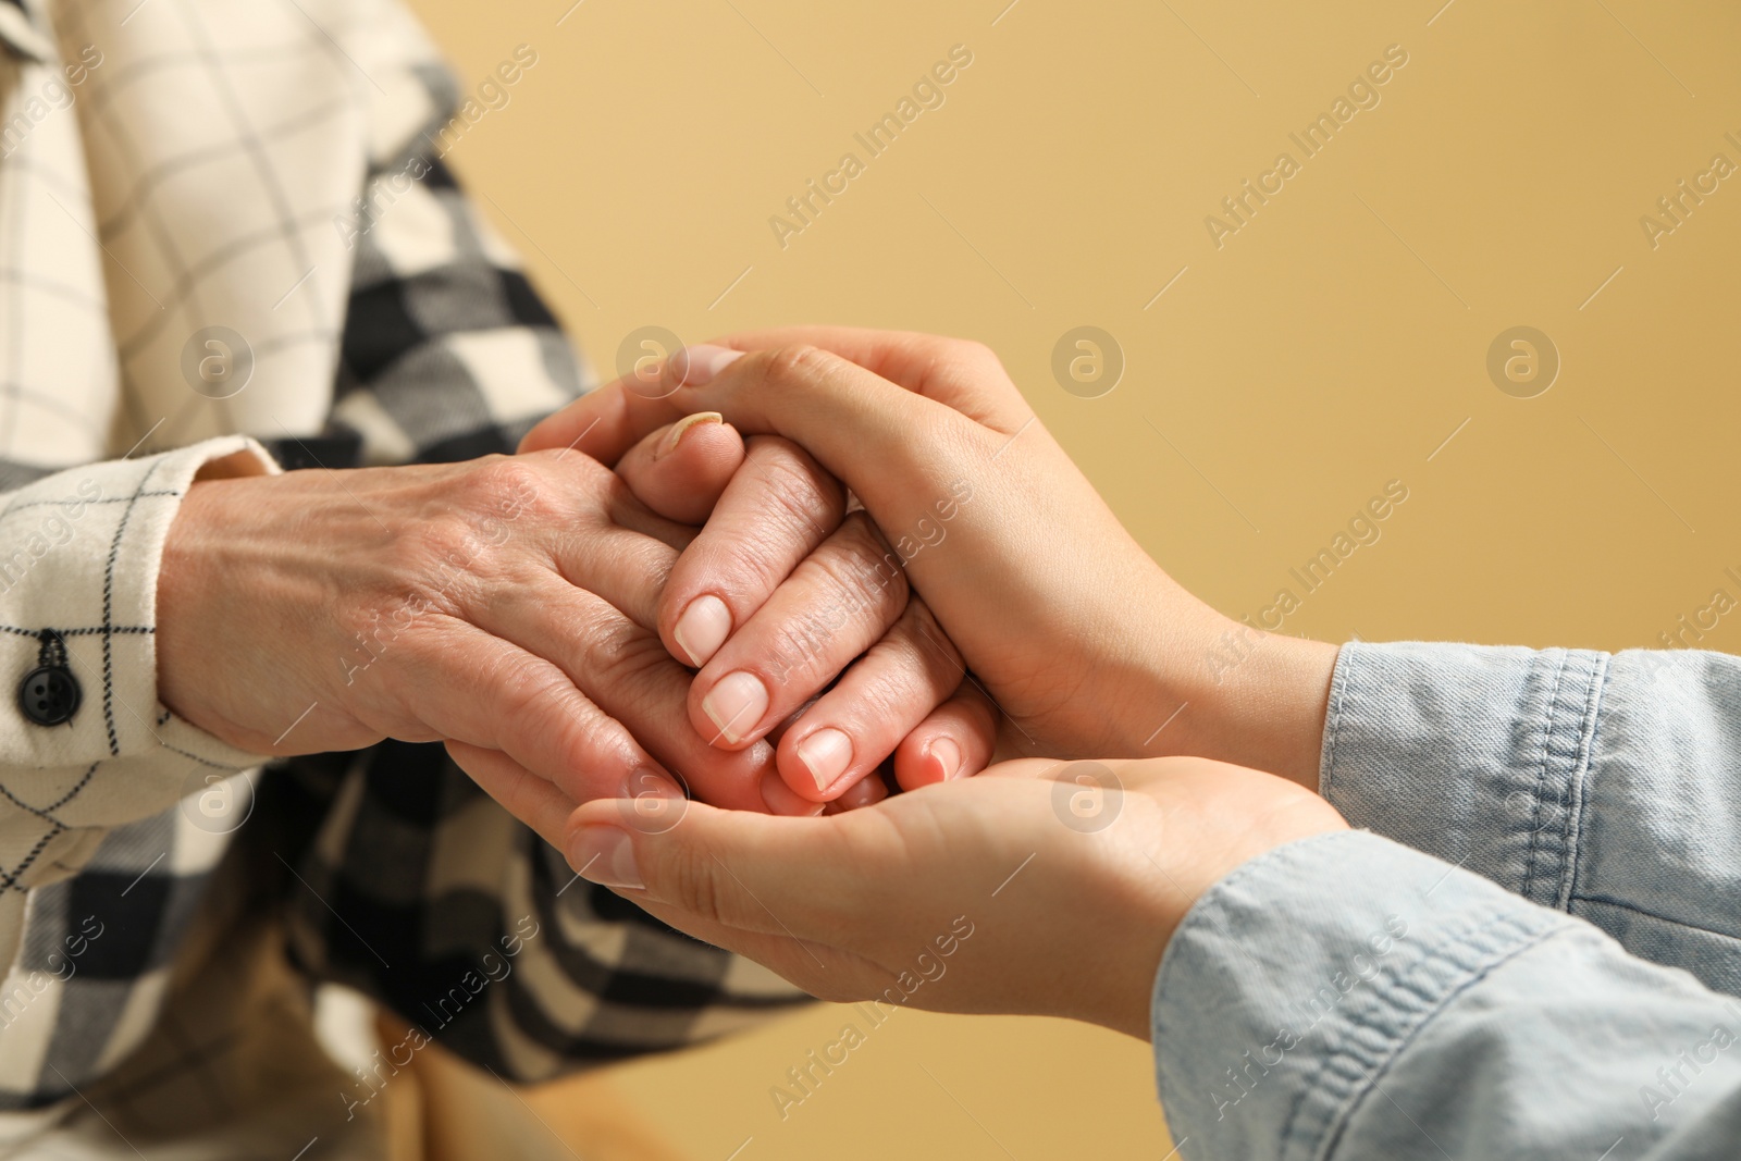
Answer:
<svg viewBox="0 0 1741 1161"><path fill-rule="evenodd" d="M773 748L710 747L689 724L689 670L665 653L651 630L601 595L547 576L498 592L474 616L487 632L557 665L696 797L735 809L768 809L761 783L773 768ZM585 771L557 785L575 801L620 794L616 783L595 785Z"/></svg>

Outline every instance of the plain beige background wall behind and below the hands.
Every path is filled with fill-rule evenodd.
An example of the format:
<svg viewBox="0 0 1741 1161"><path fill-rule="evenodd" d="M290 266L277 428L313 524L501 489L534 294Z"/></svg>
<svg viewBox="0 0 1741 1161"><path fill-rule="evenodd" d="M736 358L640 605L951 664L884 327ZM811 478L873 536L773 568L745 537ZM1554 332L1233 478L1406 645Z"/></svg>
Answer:
<svg viewBox="0 0 1741 1161"><path fill-rule="evenodd" d="M416 0L472 85L538 52L451 160L601 371L649 324L984 339L1234 614L1403 480L1287 632L1612 649L1741 597L1741 174L1656 249L1640 226L1713 153L1741 164L1741 9L1005 3ZM956 44L945 104L867 160L853 132ZM1393 44L1379 106L1304 160L1288 134ZM848 150L865 172L782 249L768 218ZM1301 172L1217 249L1205 216L1283 150ZM1128 362L1100 399L1050 371L1081 324ZM1518 324L1563 360L1536 399L1485 369ZM1731 621L1703 644L1741 646ZM618 1083L696 1159L1166 1149L1144 1050L1038 1020L904 1013L782 1123L768 1088L839 1022Z"/></svg>

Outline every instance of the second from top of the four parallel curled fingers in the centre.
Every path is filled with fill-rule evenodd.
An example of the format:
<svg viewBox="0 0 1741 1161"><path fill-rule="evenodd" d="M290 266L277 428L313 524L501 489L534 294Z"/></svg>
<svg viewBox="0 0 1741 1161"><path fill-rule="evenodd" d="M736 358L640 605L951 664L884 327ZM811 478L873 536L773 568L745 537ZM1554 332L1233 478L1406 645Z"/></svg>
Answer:
<svg viewBox="0 0 1741 1161"><path fill-rule="evenodd" d="M869 517L846 517L695 675L695 729L717 747L749 745L876 644L907 606L890 560Z"/></svg>

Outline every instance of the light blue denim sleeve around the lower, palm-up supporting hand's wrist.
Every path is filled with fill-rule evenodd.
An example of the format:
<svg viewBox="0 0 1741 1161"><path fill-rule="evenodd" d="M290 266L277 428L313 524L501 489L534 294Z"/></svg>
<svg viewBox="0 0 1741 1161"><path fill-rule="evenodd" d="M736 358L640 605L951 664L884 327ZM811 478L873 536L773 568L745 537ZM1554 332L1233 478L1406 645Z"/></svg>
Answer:
<svg viewBox="0 0 1741 1161"><path fill-rule="evenodd" d="M1741 1001L1358 830L1210 888L1153 1036L1186 1161L1704 1161L1741 1140Z"/></svg>

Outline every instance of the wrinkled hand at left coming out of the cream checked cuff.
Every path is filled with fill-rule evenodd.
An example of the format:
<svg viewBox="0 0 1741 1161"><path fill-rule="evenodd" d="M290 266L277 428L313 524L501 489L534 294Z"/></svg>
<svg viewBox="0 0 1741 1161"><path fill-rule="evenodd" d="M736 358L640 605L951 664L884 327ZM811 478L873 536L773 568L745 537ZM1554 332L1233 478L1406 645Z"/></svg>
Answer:
<svg viewBox="0 0 1741 1161"><path fill-rule="evenodd" d="M164 552L160 695L259 754L456 738L575 801L679 771L761 809L771 752L698 738L688 672L641 627L691 534L578 453L197 482Z"/></svg>

